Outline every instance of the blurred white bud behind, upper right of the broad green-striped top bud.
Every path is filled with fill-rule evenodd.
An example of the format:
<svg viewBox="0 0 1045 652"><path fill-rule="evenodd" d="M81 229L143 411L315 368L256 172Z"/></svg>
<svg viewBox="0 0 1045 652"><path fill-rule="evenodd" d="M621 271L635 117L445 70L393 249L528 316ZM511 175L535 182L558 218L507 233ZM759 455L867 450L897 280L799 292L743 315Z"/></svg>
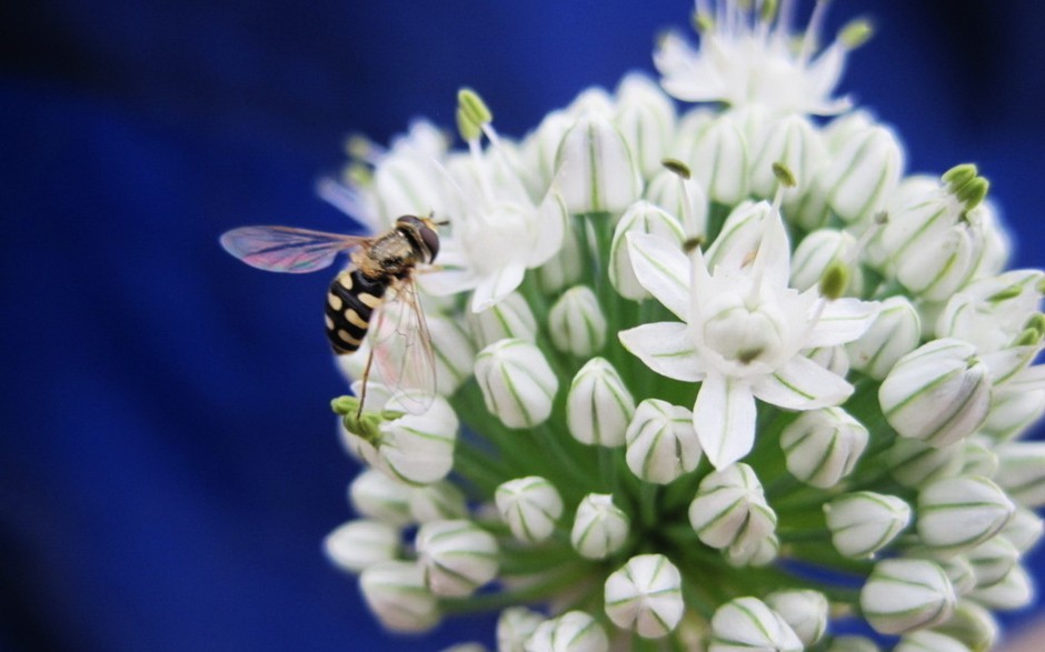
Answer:
<svg viewBox="0 0 1045 652"><path fill-rule="evenodd" d="M660 169L675 127L675 106L643 74L628 74L617 87L614 124L628 143L644 177Z"/></svg>

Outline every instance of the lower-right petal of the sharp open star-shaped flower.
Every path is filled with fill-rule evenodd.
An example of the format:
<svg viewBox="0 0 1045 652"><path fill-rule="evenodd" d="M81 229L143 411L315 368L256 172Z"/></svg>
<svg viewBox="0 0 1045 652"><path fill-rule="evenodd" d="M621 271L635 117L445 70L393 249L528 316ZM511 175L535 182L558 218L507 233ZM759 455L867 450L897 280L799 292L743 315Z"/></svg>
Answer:
<svg viewBox="0 0 1045 652"><path fill-rule="evenodd" d="M774 373L752 385L760 401L787 410L837 405L853 393L853 385L803 355L795 355Z"/></svg>

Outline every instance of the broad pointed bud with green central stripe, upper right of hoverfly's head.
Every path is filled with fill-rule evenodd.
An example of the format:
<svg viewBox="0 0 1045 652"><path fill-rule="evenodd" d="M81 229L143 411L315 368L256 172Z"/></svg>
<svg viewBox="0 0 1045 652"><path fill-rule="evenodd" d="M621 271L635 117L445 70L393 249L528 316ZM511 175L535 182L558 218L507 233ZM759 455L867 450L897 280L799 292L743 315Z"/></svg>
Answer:
<svg viewBox="0 0 1045 652"><path fill-rule="evenodd" d="M638 168L620 131L587 113L563 137L555 183L570 213L621 212L641 193Z"/></svg>

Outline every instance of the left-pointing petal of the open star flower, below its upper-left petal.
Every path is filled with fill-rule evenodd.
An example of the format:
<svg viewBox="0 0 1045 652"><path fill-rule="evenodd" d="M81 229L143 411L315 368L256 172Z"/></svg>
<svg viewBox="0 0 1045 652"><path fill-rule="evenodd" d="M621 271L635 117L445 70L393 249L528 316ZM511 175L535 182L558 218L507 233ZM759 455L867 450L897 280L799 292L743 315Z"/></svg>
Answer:
<svg viewBox="0 0 1045 652"><path fill-rule="evenodd" d="M675 380L697 382L704 380L704 362L681 322L646 323L617 334L624 348L646 367L660 375Z"/></svg>

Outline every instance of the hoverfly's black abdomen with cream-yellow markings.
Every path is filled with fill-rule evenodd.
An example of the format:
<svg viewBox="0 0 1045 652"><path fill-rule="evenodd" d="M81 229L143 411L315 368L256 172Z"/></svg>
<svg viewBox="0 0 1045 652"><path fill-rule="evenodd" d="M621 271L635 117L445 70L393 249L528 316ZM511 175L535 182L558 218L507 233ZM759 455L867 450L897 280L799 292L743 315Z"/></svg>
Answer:
<svg viewBox="0 0 1045 652"><path fill-rule="evenodd" d="M338 354L359 348L370 325L374 309L385 300L388 281L368 279L352 268L339 273L327 292L327 338Z"/></svg>

